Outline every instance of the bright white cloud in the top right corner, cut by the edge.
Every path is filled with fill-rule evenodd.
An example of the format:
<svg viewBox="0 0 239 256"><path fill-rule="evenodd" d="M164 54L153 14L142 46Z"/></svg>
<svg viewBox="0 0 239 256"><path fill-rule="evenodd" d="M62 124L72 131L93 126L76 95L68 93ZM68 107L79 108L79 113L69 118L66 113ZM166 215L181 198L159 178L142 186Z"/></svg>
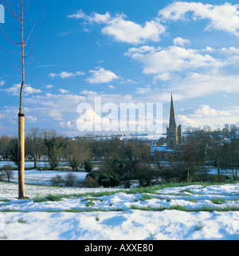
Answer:
<svg viewBox="0 0 239 256"><path fill-rule="evenodd" d="M162 21L186 20L186 14L192 13L192 19L206 19L209 24L205 30L224 30L239 36L239 11L237 5L225 3L221 6L202 4L201 2L173 2L159 10Z"/></svg>

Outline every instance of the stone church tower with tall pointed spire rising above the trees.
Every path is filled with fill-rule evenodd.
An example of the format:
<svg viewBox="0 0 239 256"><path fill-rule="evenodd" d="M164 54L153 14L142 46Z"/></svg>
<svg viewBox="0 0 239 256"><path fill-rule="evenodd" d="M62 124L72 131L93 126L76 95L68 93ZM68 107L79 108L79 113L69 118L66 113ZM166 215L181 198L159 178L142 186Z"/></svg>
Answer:
<svg viewBox="0 0 239 256"><path fill-rule="evenodd" d="M174 100L173 94L171 94L170 103L170 123L167 128L167 149L175 149L176 145L182 144L182 125L176 125L175 113L174 113Z"/></svg>

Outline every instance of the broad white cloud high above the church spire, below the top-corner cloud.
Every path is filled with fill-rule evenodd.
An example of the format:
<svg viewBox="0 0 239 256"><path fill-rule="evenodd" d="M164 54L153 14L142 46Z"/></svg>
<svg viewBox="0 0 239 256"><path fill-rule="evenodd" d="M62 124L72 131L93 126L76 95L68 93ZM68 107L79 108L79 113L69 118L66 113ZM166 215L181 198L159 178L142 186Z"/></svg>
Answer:
<svg viewBox="0 0 239 256"><path fill-rule="evenodd" d="M215 59L199 49L184 49L178 46L154 48L142 46L128 49L126 56L143 64L143 73L156 74L156 79L167 81L170 73L178 73L191 69L217 69L225 65L224 61Z"/></svg>

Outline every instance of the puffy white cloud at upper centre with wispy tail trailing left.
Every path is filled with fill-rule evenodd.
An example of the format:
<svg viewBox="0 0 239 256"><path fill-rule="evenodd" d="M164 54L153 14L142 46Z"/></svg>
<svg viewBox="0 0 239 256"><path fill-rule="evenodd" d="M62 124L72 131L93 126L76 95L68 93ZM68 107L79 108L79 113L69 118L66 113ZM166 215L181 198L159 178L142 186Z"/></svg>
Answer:
<svg viewBox="0 0 239 256"><path fill-rule="evenodd" d="M160 35L165 33L165 26L159 23L157 19L145 22L139 25L135 22L126 20L124 14L117 14L112 17L108 12L106 14L92 13L89 16L82 10L68 16L69 18L84 19L89 24L101 24L104 28L101 32L113 37L116 41L123 41L131 44L139 44L144 41L160 41Z"/></svg>

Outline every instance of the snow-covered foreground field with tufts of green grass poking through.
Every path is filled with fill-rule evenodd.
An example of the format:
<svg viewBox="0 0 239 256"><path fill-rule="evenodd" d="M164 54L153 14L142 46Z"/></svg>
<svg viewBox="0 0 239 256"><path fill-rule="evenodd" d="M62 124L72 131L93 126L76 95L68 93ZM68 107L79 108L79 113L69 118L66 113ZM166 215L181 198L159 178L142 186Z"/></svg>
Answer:
<svg viewBox="0 0 239 256"><path fill-rule="evenodd" d="M108 194L88 194L108 192ZM111 192L111 193L109 193ZM151 193L0 183L0 238L33 240L239 239L239 183ZM65 195L58 201L34 200ZM69 196L67 196L69 195Z"/></svg>

